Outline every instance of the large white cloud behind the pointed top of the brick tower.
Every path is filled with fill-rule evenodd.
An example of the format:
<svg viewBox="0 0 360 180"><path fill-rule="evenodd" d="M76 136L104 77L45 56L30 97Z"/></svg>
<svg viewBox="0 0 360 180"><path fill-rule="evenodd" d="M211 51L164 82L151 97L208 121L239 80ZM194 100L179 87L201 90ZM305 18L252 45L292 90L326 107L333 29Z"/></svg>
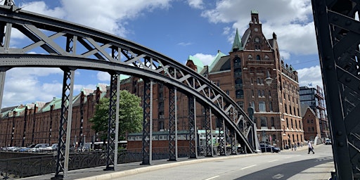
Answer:
<svg viewBox="0 0 360 180"><path fill-rule="evenodd" d="M229 42L232 42L236 28L240 35L248 28L252 10L259 12L266 38L271 39L273 32L278 35L281 51L289 55L317 53L310 0L224 0L217 1L215 8L203 11L202 15L212 23L233 23L233 33L224 29L224 34L229 34Z"/></svg>

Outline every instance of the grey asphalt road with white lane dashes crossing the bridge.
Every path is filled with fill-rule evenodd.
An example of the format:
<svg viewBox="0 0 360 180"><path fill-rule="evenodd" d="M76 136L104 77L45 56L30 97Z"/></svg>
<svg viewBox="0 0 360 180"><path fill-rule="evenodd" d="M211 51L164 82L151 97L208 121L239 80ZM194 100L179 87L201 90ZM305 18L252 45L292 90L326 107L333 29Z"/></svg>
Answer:
<svg viewBox="0 0 360 180"><path fill-rule="evenodd" d="M315 154L307 147L280 153L199 162L158 169L117 179L328 179L333 171L331 146L315 146Z"/></svg>

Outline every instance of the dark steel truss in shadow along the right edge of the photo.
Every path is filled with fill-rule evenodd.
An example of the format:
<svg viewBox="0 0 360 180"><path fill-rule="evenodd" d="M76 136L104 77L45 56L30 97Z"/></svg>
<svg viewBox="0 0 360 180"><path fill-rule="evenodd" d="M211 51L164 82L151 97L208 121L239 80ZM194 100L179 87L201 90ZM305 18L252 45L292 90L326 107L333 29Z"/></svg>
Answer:
<svg viewBox="0 0 360 180"><path fill-rule="evenodd" d="M312 0L336 179L360 179L360 1Z"/></svg>

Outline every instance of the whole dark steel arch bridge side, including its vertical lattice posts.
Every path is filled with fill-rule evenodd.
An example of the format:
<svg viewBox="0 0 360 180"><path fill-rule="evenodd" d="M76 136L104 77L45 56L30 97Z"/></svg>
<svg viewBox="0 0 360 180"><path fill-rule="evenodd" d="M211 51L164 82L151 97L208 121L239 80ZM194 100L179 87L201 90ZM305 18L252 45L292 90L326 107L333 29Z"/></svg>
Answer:
<svg viewBox="0 0 360 180"><path fill-rule="evenodd" d="M26 46L10 46L11 32L18 30L32 40ZM143 96L143 164L151 163L151 136L153 120L153 82L168 86L169 108L169 160L176 160L176 94L181 91L189 99L190 158L197 158L196 150L196 108L195 103L205 107L205 130L207 140L206 155L212 156L212 115L221 122L220 138L224 139L225 130L231 132L231 152L236 153L236 142L245 145L248 153L255 153L254 122L218 86L190 68L172 58L112 34L94 30L64 20L23 11L6 0L0 6L0 107L4 94L6 71L19 67L61 68L63 93L58 139L56 175L62 179L68 174L72 121L72 94L74 75L77 69L99 70L110 74L110 112L108 121L108 147L106 169L117 165L117 122L119 110L120 74L134 75L144 80ZM80 48L81 47L81 48ZM41 49L44 53L28 53ZM80 51L80 49L85 49ZM225 142L221 141L221 154L225 154Z"/></svg>

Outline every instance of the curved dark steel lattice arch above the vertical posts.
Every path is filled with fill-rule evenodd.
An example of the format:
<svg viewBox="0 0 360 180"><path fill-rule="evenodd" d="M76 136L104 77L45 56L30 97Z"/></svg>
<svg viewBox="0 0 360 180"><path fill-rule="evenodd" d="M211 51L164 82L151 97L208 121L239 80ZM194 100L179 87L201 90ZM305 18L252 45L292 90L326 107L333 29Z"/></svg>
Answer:
<svg viewBox="0 0 360 180"><path fill-rule="evenodd" d="M23 33L32 42L20 48L11 47L10 39L13 29ZM66 115L71 112L72 104L66 102L72 102L75 70L109 72L111 76L110 97L116 96L116 91L120 86L118 78L120 74L135 75L146 79L146 84L150 82L147 86L149 89L151 82L160 82L205 105L207 110L210 110L207 111L208 117L211 118L211 115L214 114L224 120L225 126L233 130L235 136L243 141L248 153L255 151L254 122L244 110L216 84L172 58L113 34L23 11L13 4L0 6L0 30L4 32L4 34L0 34L0 39L4 39L1 41L3 46L0 47L0 107L4 94L6 71L11 68L56 67L64 70L61 112L63 126L69 123L68 120L71 120L71 117L66 117ZM27 53L34 49L42 49L45 53ZM175 94L176 91L174 91ZM116 102L110 102L110 109L115 106ZM114 123L113 115L109 115L109 125ZM60 132L61 136L65 138L68 131L65 132L65 129L61 128L60 131L63 132ZM115 132L109 130L109 133ZM147 133L149 134L149 132ZM59 143L63 143L65 146L67 141L70 140L66 139L66 142L59 140ZM114 141L116 140L114 139ZM108 152L108 158L114 158L114 155L110 155L111 153ZM67 157L67 151L63 152L61 148L59 148L58 154L58 163L60 163L60 159ZM116 160L113 160L114 162L116 163ZM67 165L59 164L56 174L60 171L64 171L66 174Z"/></svg>

